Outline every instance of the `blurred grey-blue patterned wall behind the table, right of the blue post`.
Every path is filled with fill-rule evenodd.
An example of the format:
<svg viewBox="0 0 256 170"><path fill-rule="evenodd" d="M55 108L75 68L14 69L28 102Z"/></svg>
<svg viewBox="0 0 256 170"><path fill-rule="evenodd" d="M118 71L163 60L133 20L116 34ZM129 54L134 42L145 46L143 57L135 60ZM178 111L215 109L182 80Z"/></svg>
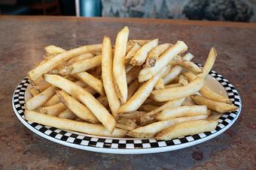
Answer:
<svg viewBox="0 0 256 170"><path fill-rule="evenodd" d="M256 0L102 0L102 16L256 22Z"/></svg>

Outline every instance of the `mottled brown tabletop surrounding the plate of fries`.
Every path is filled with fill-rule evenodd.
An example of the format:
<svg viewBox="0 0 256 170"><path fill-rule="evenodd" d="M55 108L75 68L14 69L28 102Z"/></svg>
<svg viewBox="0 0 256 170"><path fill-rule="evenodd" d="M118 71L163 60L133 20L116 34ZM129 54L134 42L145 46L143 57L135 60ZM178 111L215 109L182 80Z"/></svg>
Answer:
<svg viewBox="0 0 256 170"><path fill-rule="evenodd" d="M44 46L64 49L100 43L124 25L130 38L184 40L203 64L215 46L214 70L242 97L242 113L220 136L200 145L160 154L99 154L43 139L18 121L11 106L14 88L41 60ZM0 169L256 169L256 24L163 19L0 16Z"/></svg>

